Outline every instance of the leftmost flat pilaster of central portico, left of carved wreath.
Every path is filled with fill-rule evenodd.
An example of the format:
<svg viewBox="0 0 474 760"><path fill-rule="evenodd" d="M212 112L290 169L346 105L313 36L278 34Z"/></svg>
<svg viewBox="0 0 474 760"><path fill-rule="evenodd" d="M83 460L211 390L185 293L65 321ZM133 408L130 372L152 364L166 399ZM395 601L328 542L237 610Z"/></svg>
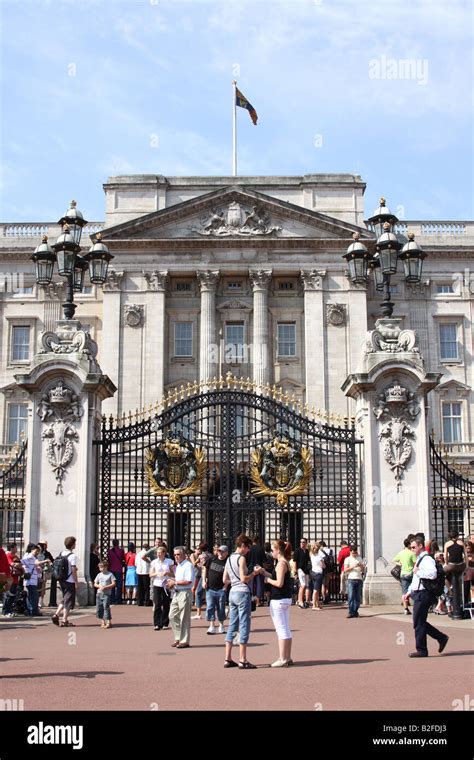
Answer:
<svg viewBox="0 0 474 760"><path fill-rule="evenodd" d="M117 272L109 267L107 282L103 287L103 305L102 305L102 347L101 363L104 372L111 378L117 387L121 385L121 363L122 363L122 323L120 319L122 304L122 282L124 272ZM107 336L112 335L113 340L108 340ZM120 409L120 392L114 398L109 398L103 405L105 415L113 414L117 416Z"/></svg>

